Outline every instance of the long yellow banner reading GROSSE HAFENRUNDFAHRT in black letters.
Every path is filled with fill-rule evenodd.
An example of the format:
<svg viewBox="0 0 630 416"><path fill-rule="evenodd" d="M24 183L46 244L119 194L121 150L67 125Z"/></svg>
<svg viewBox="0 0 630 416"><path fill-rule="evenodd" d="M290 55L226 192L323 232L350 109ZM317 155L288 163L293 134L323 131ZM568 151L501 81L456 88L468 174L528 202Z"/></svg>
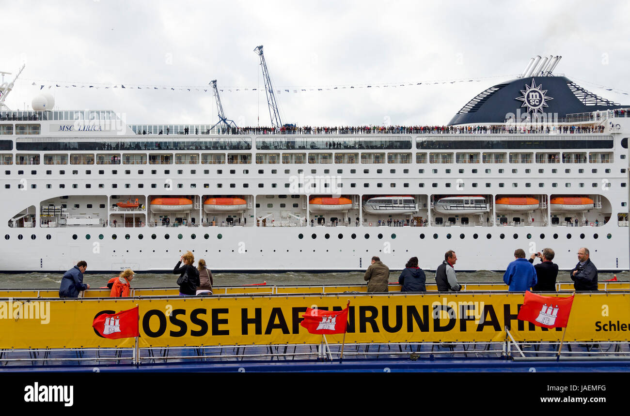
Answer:
<svg viewBox="0 0 630 416"><path fill-rule="evenodd" d="M132 346L93 330L100 313L139 305L140 346L318 344L299 323L307 307L341 310L350 300L347 343L559 341L561 330L517 320L522 294L287 295L126 300L0 301L0 348ZM577 294L565 340L627 341L630 294ZM342 335L327 335L340 343Z"/></svg>

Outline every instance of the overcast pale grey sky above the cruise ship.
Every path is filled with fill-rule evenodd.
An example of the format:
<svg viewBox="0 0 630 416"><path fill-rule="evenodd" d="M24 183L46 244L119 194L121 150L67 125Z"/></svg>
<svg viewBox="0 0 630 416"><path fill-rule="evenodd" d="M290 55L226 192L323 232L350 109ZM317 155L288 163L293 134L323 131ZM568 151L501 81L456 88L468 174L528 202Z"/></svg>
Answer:
<svg viewBox="0 0 630 416"><path fill-rule="evenodd" d="M30 108L40 85L59 83L49 90L58 110L113 110L130 124L214 123L208 84L217 79L227 118L270 125L257 45L282 90L284 123L442 125L474 95L520 74L534 55L562 55L556 73L630 104L620 93L630 93L626 1L213 3L5 1L0 70L16 72L26 62L6 104ZM427 84L461 79L474 81Z"/></svg>

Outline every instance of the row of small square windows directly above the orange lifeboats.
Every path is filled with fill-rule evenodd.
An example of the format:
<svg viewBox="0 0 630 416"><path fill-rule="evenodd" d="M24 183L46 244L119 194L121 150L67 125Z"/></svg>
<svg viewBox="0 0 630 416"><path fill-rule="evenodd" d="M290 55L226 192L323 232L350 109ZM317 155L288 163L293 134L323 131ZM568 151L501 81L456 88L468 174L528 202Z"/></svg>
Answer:
<svg viewBox="0 0 630 416"><path fill-rule="evenodd" d="M223 184L222 183L217 183L215 184L217 188L223 188ZM383 188L383 183L376 183L376 188ZM396 188L397 184L396 183L389 183L386 184L387 187L389 188ZM403 183L403 188L410 188L410 183ZM532 188L532 183L530 182L526 182L523 184L525 188ZM564 183L564 188L571 188L573 184L571 184L570 182L565 182ZM85 188L90 189L92 188L92 184L84 184ZM111 184L112 188L118 188L118 184ZM138 188L144 188L144 184L140 183L140 184L136 184L136 186ZM171 182L166 182L163 184L165 189L172 189L173 188L173 184ZM210 184L209 183L204 183L202 184L203 188L210 188ZM241 184L241 186L243 188L249 188L249 184L244 183ZM319 186L321 186L320 184L315 184L315 183L311 183L311 188L318 188ZM335 184L336 188L343 188L343 183L336 183ZM440 184L438 184L437 182L434 182L431 184L432 188L439 188ZM466 187L466 183L458 181L457 183L445 183L442 184L442 186L444 186L445 188L456 188L458 191L465 188ZM479 183L477 182L473 182L471 183L471 186L473 188L478 188L479 187ZM485 183L486 188L491 188L493 186L493 183L491 182L486 182ZM521 184L517 183L517 182L513 182L510 183L511 188L519 188L521 186ZM591 184L592 188L598 188L599 186L602 187L602 189L610 189L612 188L612 183L610 183L609 181L606 181L605 179L602 179L601 183L597 183L597 182L593 182ZM621 183L621 188L626 188L627 183L622 182ZM277 188L278 184L277 183L272 183L271 184L272 188ZM285 183L284 184L285 188L290 188L291 184L290 183ZM363 184L364 188L370 188L370 184L369 183L364 183ZM425 183L418 183L418 188L424 188L425 187ZM506 188L505 186L505 182L500 182L498 183L498 187L499 188ZM544 188L545 187L545 183L544 182L539 182L538 183L538 188ZM557 182L552 182L551 183L551 188L558 188L558 183ZM585 188L586 184L583 182L578 183L578 188ZM37 184L30 184L30 188L31 189L36 189L37 188ZM52 188L52 184L46 184L46 188L47 189L51 189ZM66 188L66 184L59 184L59 188L60 189L64 189ZM79 188L79 184L72 184L72 189L78 189ZM103 189L105 188L105 184L98 184L98 188ZM132 188L132 184L124 184L124 188ZM157 188L157 184L156 183L152 183L151 184L151 188ZM176 188L178 189L183 189L184 188L184 184L178 183L176 184ZM197 184L196 183L191 183L190 184L190 188L197 188ZM229 184L229 188L237 188L235 183L231 183ZM259 183L258 184L258 188L265 188L265 184L263 183ZM297 184L297 188L304 188L304 183L298 183ZM324 183L324 188L331 188L331 184L330 183ZM357 188L357 183L350 183L350 188ZM11 189L11 184L4 184L4 189ZM25 189L25 184L18 184L18 189Z"/></svg>

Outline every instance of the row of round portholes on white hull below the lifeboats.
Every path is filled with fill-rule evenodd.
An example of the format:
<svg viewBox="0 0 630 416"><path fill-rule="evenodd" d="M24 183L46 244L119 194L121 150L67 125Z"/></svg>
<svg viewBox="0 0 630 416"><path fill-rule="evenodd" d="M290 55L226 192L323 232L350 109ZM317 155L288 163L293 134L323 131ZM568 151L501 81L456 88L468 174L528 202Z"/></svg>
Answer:
<svg viewBox="0 0 630 416"><path fill-rule="evenodd" d="M22 235L22 234L18 234L16 237L17 237L18 240L23 240L25 236ZM165 239L165 240L168 240L168 239L170 239L171 236L170 236L170 234L166 233L166 234L164 234L161 237L163 239ZM195 239L197 239L197 234L192 233L192 234L190 234L190 235L188 235L186 237L188 237L188 238L190 238L192 240L195 240ZM222 234L217 234L215 236L215 238L218 239L218 240L221 240L222 237L223 237ZM319 236L318 236L317 233L312 233L310 237L311 237L312 240L316 240ZM322 237L324 237L324 239L328 240L328 239L331 238L331 234L325 233L324 235L322 235ZM339 239L339 240L343 239L344 237L345 237L345 235L343 233L338 233L338 235L337 235L337 239ZM356 233L352 233L352 234L348 235L348 237L350 237L350 239L355 240L355 239L357 239L358 235ZM379 240L382 240L383 238L396 239L396 234L392 233L391 235L386 236L386 235L383 235L382 233L378 233L378 234L365 233L363 235L363 237L364 237L365 240L369 240L372 237L375 237L376 239L379 239ZM446 233L446 234L442 234L442 237L445 237L447 240L453 239L454 237L459 237L460 240L464 240L464 239L466 239L467 236L466 236L466 233L460 233L459 235L457 235L457 234L454 235L452 233ZM469 235L469 237L472 237L474 240L476 240L476 239L479 239L480 237L483 237L483 236L480 236L478 233L474 233L473 235ZM501 240L504 240L506 238L509 239L510 237L512 237L512 239L514 239L514 240L518 240L521 237L525 237L528 240L531 240L533 238L532 234L530 234L530 233L527 234L527 235L519 235L518 233L513 233L512 235L506 235L505 233L500 233L498 235L496 235L496 234L493 235L492 233L486 233L486 235L485 235L485 238L487 240L491 240L491 239L493 239L493 237L495 237L495 238L498 237L498 239L501 239ZM557 239L560 238L560 235L558 233L554 233L553 235L551 235L551 237L553 237L554 240L557 240ZM566 234L566 239L570 240L571 237L573 237L573 235L571 233L567 233ZM585 233L580 233L579 237L580 237L580 239L585 239L585 238L587 238L587 235ZM52 235L47 234L45 238L47 240L51 240L52 239ZM72 240L77 240L77 239L79 239L79 235L72 234L71 238L72 238ZM85 239L86 240L89 240L91 238L92 238L91 234L86 234L85 235ZM110 238L112 240L116 240L116 239L118 239L118 235L117 234L112 234L112 235L110 235ZM123 235L123 238L125 240L132 239L130 234ZM182 239L185 238L185 236L180 233L180 234L176 235L176 238L179 239L179 240L182 240ZM205 240L208 240L210 238L211 238L210 234L208 234L208 233L203 235L203 239L205 239ZM300 240L304 239L304 234L302 234L302 233L298 234L297 238L300 239ZM430 239L430 238L432 238L434 240L438 240L438 239L440 239L440 234L439 233L433 233L433 235L425 235L424 233L421 233L420 235L418 235L418 238L420 240ZM541 233L539 238L541 240L544 240L546 238L546 235L544 233ZM606 235L606 238L609 239L609 240L612 239L612 233L608 233ZM10 240L11 239L11 235L5 234L4 235L4 239L5 240ZM31 240L37 239L37 235L31 234L30 235L30 239ZM98 239L100 239L100 240L105 239L105 235L104 234L99 234L98 235ZM137 235L137 239L139 239L139 240L144 239L144 235L143 234L138 234ZM156 240L157 239L157 235L156 234L151 234L151 239ZM595 240L599 239L599 233L593 233L593 239L595 239ZM142 251L142 250L140 250L140 251ZM166 251L168 251L168 250L166 250ZM232 250L232 252L233 251L234 250ZM288 251L289 250L287 250L287 252ZM302 251L302 250L300 250L300 251ZM315 251L315 250L313 250L313 251ZM328 251L328 250L326 250L326 251ZM129 252L129 250L127 250L127 252ZM221 252L221 250L219 250L219 252ZM260 250L260 252L263 252L263 250Z"/></svg>

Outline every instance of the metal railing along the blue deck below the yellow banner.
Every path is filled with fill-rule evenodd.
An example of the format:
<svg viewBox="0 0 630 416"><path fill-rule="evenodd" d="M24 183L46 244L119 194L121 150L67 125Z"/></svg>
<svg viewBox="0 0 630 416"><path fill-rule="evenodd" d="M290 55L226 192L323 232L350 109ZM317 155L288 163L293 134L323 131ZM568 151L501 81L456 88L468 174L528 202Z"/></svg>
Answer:
<svg viewBox="0 0 630 416"><path fill-rule="evenodd" d="M433 359L438 357L503 357L515 361L558 361L560 342L515 341L455 341L455 342L395 342L352 343L343 346L343 356L355 359ZM93 366L95 364L155 364L200 361L207 364L273 361L295 359L338 360L341 344L268 344L258 346L166 346L114 348L43 348L0 349L0 364L11 366ZM627 360L630 349L626 341L564 341L559 359L590 361ZM260 364L258 364L260 365Z"/></svg>

